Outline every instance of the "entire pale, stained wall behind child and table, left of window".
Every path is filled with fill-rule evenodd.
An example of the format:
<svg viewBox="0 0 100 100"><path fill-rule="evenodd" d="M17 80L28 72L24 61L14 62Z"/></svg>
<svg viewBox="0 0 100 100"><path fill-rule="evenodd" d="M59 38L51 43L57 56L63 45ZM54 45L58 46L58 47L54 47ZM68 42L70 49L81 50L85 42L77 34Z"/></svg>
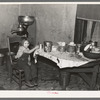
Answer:
<svg viewBox="0 0 100 100"><path fill-rule="evenodd" d="M76 8L75 4L0 5L0 48L7 47L6 36L17 27L19 15L36 18L36 24L28 28L33 44L45 40L73 41Z"/></svg>

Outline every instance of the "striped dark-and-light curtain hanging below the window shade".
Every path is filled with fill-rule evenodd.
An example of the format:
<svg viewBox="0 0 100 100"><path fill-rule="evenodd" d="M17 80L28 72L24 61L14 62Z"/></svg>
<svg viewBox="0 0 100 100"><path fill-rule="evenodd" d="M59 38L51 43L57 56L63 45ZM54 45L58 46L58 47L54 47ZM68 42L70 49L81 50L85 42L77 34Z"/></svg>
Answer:
<svg viewBox="0 0 100 100"><path fill-rule="evenodd" d="M99 41L100 23L76 19L74 42L76 44L86 43L90 40Z"/></svg>

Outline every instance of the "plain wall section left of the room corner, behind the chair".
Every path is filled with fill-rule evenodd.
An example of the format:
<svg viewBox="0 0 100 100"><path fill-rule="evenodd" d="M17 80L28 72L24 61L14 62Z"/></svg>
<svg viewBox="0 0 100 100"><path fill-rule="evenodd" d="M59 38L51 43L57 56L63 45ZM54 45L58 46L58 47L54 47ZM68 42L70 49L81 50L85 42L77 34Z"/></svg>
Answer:
<svg viewBox="0 0 100 100"><path fill-rule="evenodd" d="M0 48L7 47L7 35L19 14L19 5L0 5Z"/></svg>

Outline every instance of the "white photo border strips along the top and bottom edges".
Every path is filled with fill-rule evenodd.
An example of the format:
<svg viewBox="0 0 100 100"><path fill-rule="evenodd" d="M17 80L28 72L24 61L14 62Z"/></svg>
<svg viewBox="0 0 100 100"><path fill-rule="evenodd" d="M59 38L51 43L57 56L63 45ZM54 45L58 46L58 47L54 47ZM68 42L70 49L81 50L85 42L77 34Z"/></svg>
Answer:
<svg viewBox="0 0 100 100"><path fill-rule="evenodd" d="M38 2L38 3L46 3L46 2L53 2L53 3L65 3L64 1L67 2L80 2L80 0L0 0L0 3L11 3L11 2ZM87 4L87 0L81 0L81 2L84 2ZM94 3L98 4L100 0L91 0L88 1L88 3ZM58 95L54 94L54 92L58 93ZM43 93L42 95L40 95ZM47 96L48 95L48 96ZM68 96L66 96L68 95ZM54 99L54 100L83 100L84 98L87 100L99 100L100 98L100 92L99 91L0 91L0 99L3 100L18 100L18 99L23 99L23 100L39 100L39 99Z"/></svg>

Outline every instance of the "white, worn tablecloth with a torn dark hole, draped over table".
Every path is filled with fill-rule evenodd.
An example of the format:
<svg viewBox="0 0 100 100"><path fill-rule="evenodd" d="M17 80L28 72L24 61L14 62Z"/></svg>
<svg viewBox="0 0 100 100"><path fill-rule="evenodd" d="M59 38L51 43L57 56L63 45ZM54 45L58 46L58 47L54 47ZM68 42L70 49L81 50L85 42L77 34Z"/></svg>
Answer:
<svg viewBox="0 0 100 100"><path fill-rule="evenodd" d="M34 52L35 58L36 55L40 55L52 60L59 66L59 68L79 67L88 62L94 61L94 59L88 59L83 55L78 56L76 54L72 54L69 52L59 52L59 51L44 52L44 50L37 49ZM37 59L35 59L35 62L37 62Z"/></svg>

